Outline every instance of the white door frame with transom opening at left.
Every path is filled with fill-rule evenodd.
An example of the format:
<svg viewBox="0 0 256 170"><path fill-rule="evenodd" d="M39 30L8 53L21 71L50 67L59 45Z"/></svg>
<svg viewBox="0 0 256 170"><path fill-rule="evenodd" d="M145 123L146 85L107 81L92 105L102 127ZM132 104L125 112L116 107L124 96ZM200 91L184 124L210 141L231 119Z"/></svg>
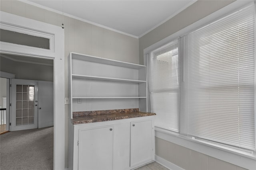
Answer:
<svg viewBox="0 0 256 170"><path fill-rule="evenodd" d="M64 29L0 11L0 27L20 33L52 37L50 50L0 42L0 53L54 60L54 169L65 169Z"/></svg>

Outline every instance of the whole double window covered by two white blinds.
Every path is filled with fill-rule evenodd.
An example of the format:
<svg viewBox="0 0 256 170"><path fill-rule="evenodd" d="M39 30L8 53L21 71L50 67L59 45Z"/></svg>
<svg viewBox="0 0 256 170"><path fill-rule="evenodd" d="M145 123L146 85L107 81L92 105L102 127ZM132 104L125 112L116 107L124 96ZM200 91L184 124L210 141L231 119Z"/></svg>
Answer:
<svg viewBox="0 0 256 170"><path fill-rule="evenodd" d="M254 25L252 5L175 40L177 55L150 53L156 126L255 151Z"/></svg>

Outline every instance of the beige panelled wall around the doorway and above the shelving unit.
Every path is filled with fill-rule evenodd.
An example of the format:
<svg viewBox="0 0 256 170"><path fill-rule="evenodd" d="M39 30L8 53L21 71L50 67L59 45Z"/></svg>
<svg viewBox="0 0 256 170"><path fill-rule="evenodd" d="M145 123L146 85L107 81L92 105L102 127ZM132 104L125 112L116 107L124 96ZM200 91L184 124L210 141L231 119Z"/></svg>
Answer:
<svg viewBox="0 0 256 170"><path fill-rule="evenodd" d="M62 15L20 2L1 0L0 10L61 26ZM74 9L75 10L75 9ZM139 40L64 16L65 97L68 97L68 54L72 52L139 64ZM68 105L65 105L65 158L68 166Z"/></svg>

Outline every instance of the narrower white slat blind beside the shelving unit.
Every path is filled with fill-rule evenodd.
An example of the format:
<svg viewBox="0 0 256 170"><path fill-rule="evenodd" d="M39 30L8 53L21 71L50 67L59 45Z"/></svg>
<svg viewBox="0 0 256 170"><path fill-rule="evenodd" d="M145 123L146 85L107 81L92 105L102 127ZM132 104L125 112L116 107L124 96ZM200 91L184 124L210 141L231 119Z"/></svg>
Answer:
<svg viewBox="0 0 256 170"><path fill-rule="evenodd" d="M178 40L148 54L148 85L155 125L179 131L180 60Z"/></svg>

